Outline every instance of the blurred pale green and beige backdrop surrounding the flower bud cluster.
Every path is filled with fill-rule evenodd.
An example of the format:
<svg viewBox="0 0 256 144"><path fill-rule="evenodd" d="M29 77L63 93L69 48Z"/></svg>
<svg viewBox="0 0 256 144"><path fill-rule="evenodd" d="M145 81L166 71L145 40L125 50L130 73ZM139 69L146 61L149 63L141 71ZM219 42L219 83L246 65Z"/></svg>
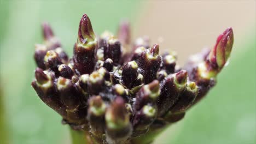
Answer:
<svg viewBox="0 0 256 144"><path fill-rule="evenodd" d="M37 97L30 83L40 23L48 21L72 55L80 17L94 31L116 32L124 17L133 39L149 35L161 52L175 50L183 65L192 53L214 45L226 27L235 42L218 85L171 125L155 143L256 143L255 1L0 1L0 143L70 143L67 125Z"/></svg>

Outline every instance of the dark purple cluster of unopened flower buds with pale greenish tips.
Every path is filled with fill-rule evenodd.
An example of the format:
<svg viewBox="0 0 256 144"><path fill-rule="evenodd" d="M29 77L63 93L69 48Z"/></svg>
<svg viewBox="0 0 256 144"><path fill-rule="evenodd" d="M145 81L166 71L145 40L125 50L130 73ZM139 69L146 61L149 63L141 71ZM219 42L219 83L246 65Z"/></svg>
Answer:
<svg viewBox="0 0 256 144"><path fill-rule="evenodd" d="M43 35L31 85L63 123L88 131L96 143L127 143L182 119L215 85L234 39L232 28L226 29L212 50L180 68L176 53L160 55L160 46L150 46L147 37L131 43L127 21L117 37L108 31L96 37L84 14L71 58L48 23Z"/></svg>

